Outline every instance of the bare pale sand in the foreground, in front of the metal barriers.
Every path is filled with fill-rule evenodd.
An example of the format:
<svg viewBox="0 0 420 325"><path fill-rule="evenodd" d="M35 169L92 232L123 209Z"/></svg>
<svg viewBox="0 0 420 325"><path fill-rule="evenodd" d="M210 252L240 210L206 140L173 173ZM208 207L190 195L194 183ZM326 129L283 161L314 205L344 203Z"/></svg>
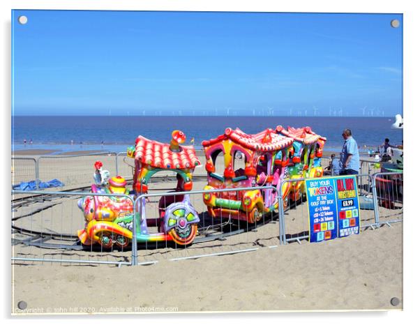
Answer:
<svg viewBox="0 0 420 325"><path fill-rule="evenodd" d="M401 229L151 266L15 265L13 305L24 300L45 312L398 309L390 300L403 296Z"/></svg>

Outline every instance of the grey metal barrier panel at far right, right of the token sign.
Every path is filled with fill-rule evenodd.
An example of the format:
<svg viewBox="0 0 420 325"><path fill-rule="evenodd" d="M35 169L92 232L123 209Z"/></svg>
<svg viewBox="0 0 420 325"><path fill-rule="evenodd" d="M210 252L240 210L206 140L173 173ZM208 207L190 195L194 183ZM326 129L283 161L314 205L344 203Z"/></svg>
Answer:
<svg viewBox="0 0 420 325"><path fill-rule="evenodd" d="M403 221L403 173L373 174L375 222L377 227Z"/></svg>

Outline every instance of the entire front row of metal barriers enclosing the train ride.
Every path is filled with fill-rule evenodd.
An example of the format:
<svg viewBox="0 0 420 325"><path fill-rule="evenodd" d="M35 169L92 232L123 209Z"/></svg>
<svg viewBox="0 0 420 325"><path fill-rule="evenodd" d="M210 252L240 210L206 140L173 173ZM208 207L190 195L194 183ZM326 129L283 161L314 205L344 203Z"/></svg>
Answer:
<svg viewBox="0 0 420 325"><path fill-rule="evenodd" d="M273 186L149 192L135 200L128 195L117 194L15 190L12 191L12 260L142 265L154 264L160 259L196 259L248 252L261 247L275 248L292 241L301 243L309 236L308 205L303 181L305 179L288 179L280 184L280 189L286 183L291 186L285 205L280 199L283 197L282 190ZM361 205L361 229L377 229L380 225L390 226L392 222L403 221L402 173L357 175L357 186ZM253 213L244 212L243 191L248 190L259 190L268 205L279 202L278 213L274 209L269 209L266 213L261 213L258 209L251 209ZM15 199L20 194L30 196ZM204 204L204 195L210 195L214 199L212 210ZM133 232L131 248L123 245L119 251L105 250L100 245L82 247L77 243L77 230L85 227L77 200L86 196L125 197L130 200L135 216L130 225ZM163 231L165 209L186 199L200 218L192 245L177 243L170 232ZM184 230L177 236L189 234Z"/></svg>

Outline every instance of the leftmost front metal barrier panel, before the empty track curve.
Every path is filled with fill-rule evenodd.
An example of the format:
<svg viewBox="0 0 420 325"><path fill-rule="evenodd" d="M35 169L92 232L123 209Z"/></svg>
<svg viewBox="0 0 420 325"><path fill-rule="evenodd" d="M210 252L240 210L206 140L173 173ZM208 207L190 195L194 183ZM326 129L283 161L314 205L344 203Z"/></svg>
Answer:
<svg viewBox="0 0 420 325"><path fill-rule="evenodd" d="M27 197L16 198L20 194ZM81 245L77 232L84 229L85 219L78 200L86 195L86 192L12 191L13 262L130 265L130 248L110 250L89 243ZM133 199L127 195L89 193L89 196L126 199L133 206Z"/></svg>

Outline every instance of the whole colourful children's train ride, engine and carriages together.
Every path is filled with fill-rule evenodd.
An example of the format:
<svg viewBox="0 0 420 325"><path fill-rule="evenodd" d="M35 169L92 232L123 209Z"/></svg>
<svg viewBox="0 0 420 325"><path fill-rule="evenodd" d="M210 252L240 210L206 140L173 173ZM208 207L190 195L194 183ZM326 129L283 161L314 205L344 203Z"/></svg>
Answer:
<svg viewBox="0 0 420 325"><path fill-rule="evenodd" d="M158 218L147 218L147 199L151 177L163 171L177 174L174 192L193 189L193 173L201 165L193 146L183 146L186 135L175 130L169 144L137 137L127 150L134 158L133 188L121 176L110 177L101 162L95 163L91 192L79 200L85 227L78 232L83 245L99 244L103 248L126 248L133 240L135 218L137 242L172 241L177 245L193 243L197 235L199 214L189 195L163 196L158 202ZM203 201L209 216L257 222L264 213L278 209L278 204L297 201L304 190L303 182L283 183L279 202L277 195L285 179L320 177L320 158L326 142L309 128L267 128L248 135L239 128L227 128L223 135L202 142L207 171ZM255 190L234 188L259 187ZM261 187L267 187L267 189ZM211 190L232 188L229 192ZM106 195L102 195L106 194ZM115 194L115 195L112 195ZM123 195L123 196L122 196ZM134 209L134 204L137 204ZM149 232L157 227L158 232Z"/></svg>

